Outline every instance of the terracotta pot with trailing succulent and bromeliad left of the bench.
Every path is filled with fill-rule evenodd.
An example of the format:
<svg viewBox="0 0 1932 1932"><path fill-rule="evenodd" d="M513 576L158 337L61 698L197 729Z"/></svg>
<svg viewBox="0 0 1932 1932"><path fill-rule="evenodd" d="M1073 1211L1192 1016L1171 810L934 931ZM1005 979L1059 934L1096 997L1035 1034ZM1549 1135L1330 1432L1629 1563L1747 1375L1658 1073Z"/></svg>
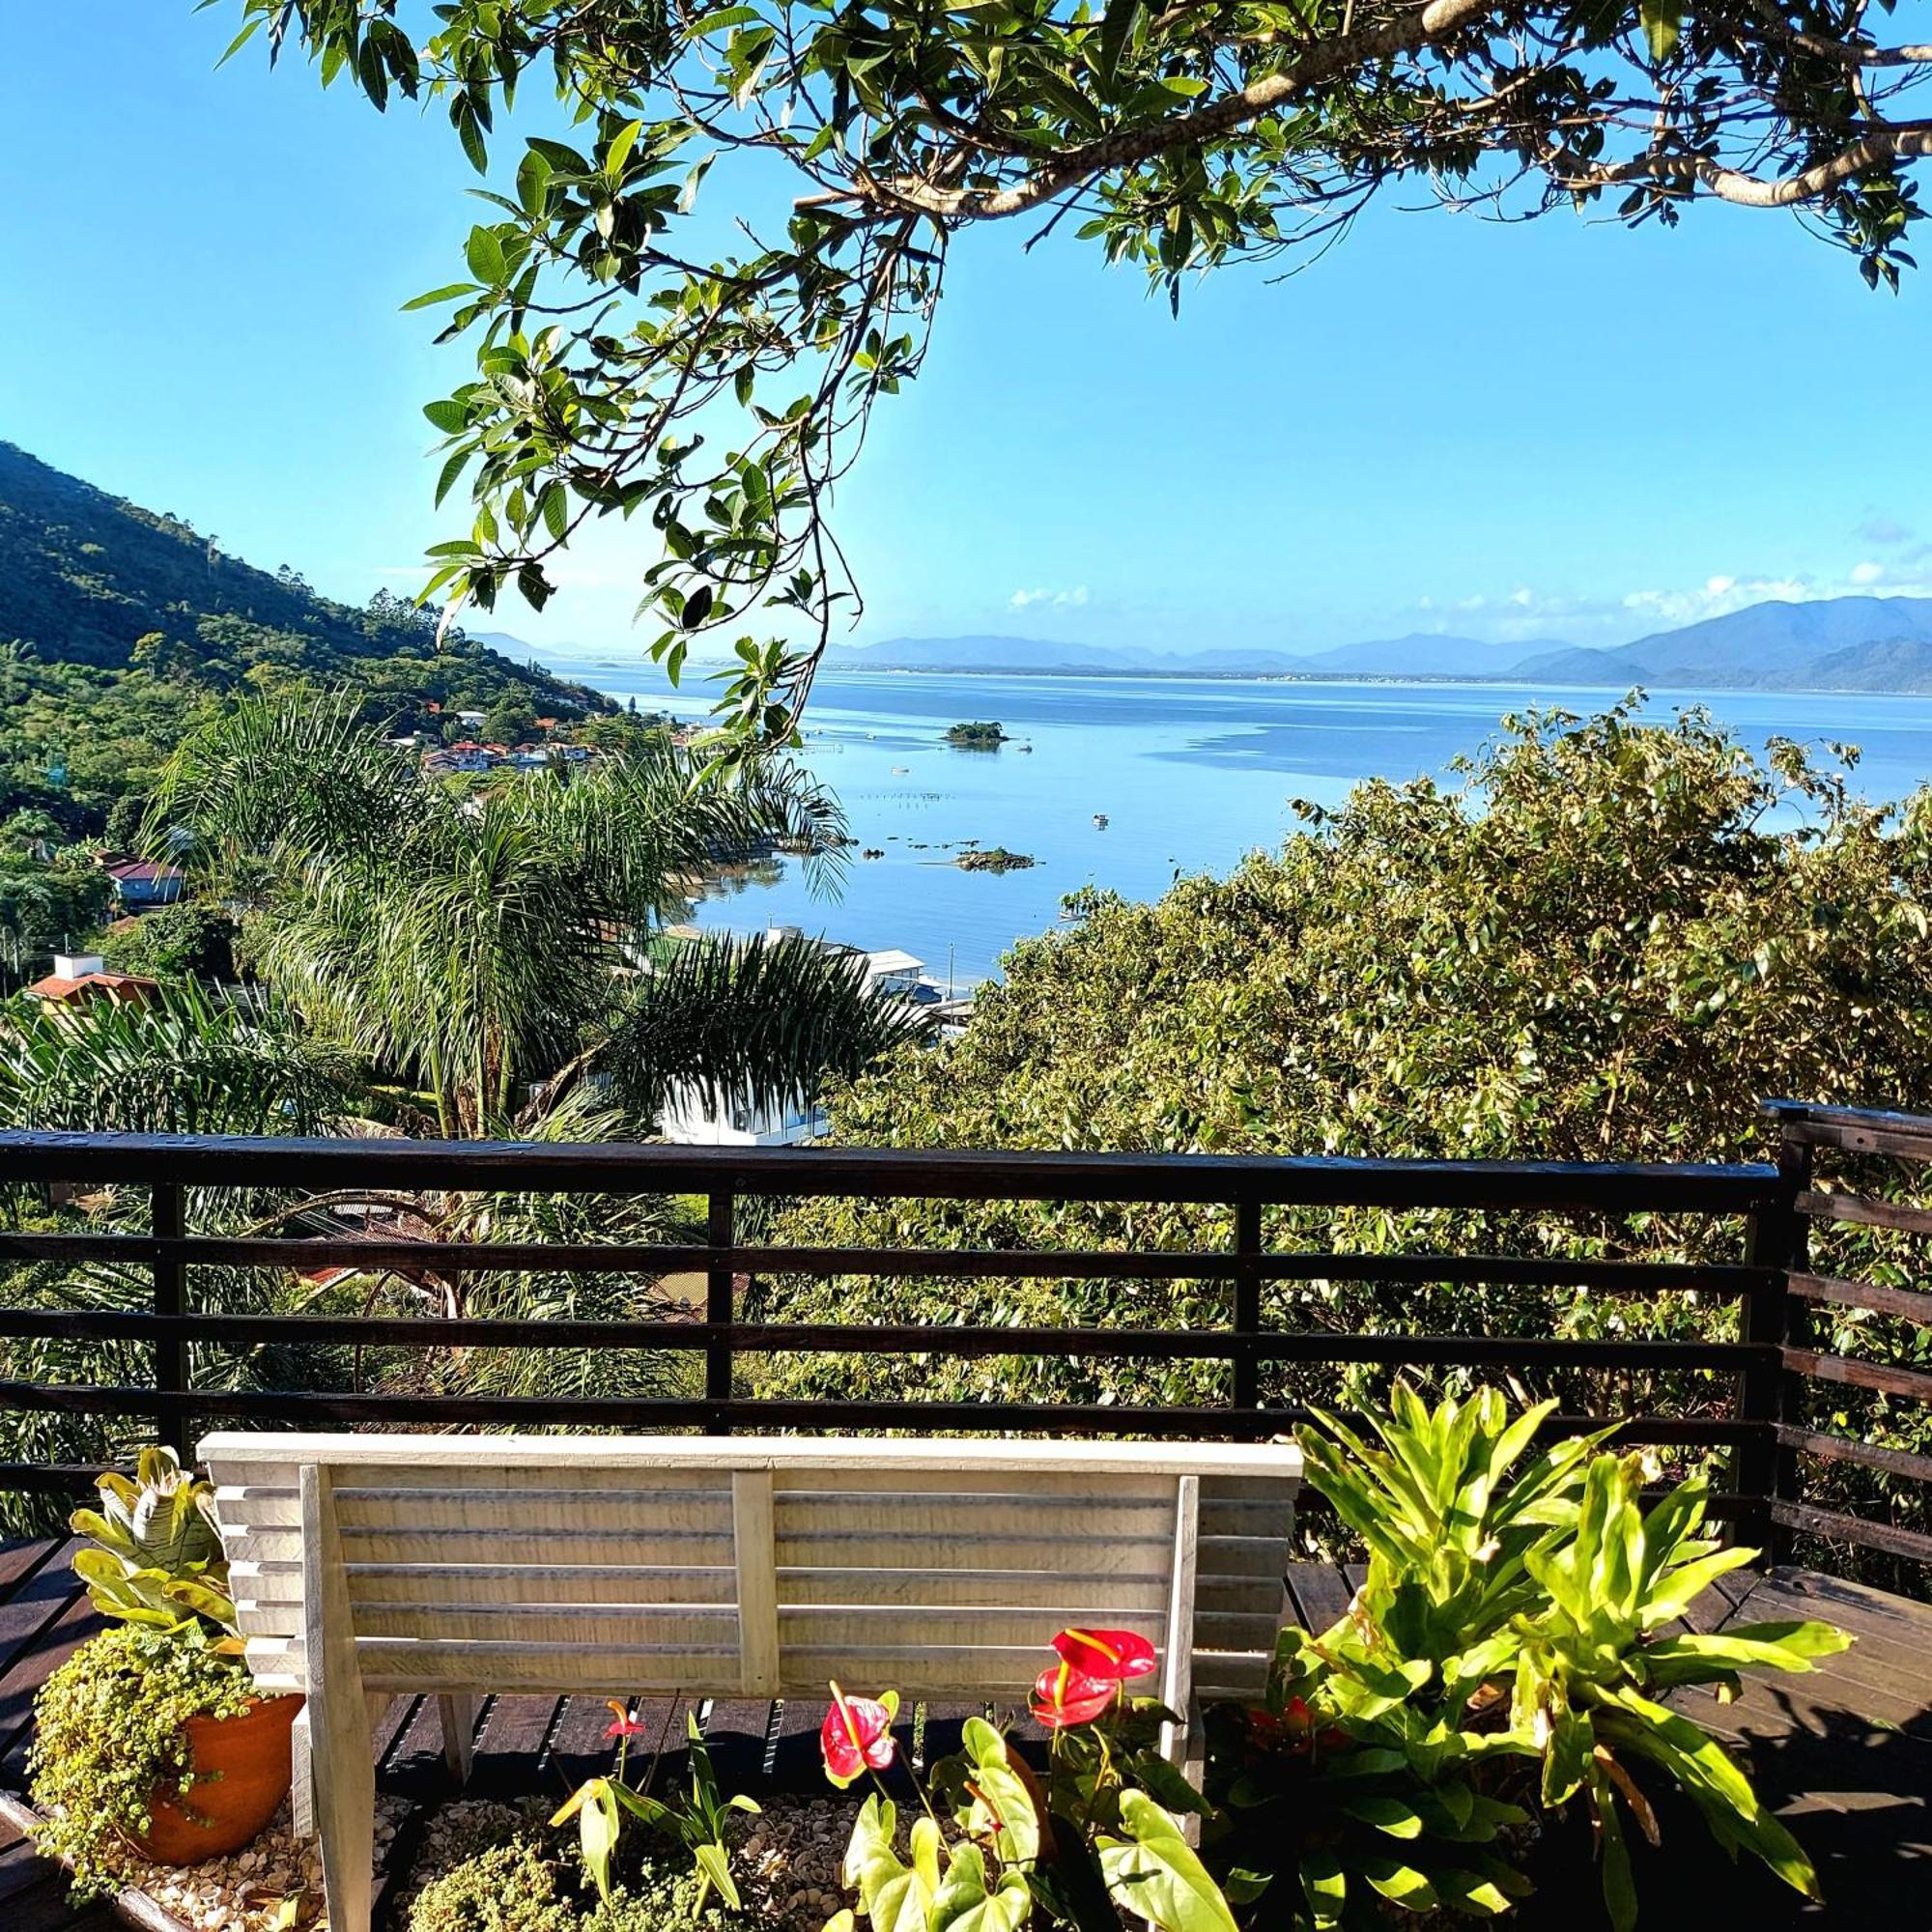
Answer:
<svg viewBox="0 0 1932 1932"><path fill-rule="evenodd" d="M112 1629L35 1700L29 1770L41 1849L79 1893L120 1882L126 1855L195 1864L236 1851L290 1785L299 1696L263 1698L243 1662L213 1490L170 1449L100 1478L73 1567Z"/></svg>

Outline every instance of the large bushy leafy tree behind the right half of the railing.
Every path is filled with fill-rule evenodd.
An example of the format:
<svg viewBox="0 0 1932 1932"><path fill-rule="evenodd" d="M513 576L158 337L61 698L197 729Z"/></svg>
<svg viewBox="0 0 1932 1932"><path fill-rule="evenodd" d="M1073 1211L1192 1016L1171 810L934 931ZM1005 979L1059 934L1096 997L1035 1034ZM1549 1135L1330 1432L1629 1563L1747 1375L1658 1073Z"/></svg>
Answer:
<svg viewBox="0 0 1932 1932"><path fill-rule="evenodd" d="M1804 823L1791 819L1803 813ZM1764 1095L1932 1105L1932 792L1855 802L1795 746L1770 763L1690 715L1519 721L1455 784L1362 784L1227 879L1105 895L1024 941L962 1039L833 1101L837 1138L900 1148L1126 1148L1534 1159L1762 1157ZM1895 1186L1895 1179L1888 1184ZM1223 1209L813 1202L808 1242L1227 1246ZM1281 1211L1277 1246L1737 1258L1665 1217ZM1833 1235L1841 1273L1911 1265ZM1857 1248L1859 1252L1851 1252ZM1880 1273L1880 1279L1886 1279ZM1909 1275L1903 1279L1911 1279ZM1223 1283L773 1283L767 1320L1223 1325ZM1582 1289L1279 1287L1269 1321L1337 1331L1723 1335L1729 1304ZM1905 1323L1849 1316L1915 1360ZM1221 1364L912 1356L906 1393L1219 1403ZM769 1393L837 1395L831 1360L769 1360ZM1453 1378L1451 1378L1453 1379ZM1383 1370L1279 1368L1289 1401L1372 1397ZM1538 1378L1526 1376L1526 1383ZM1538 1383L1540 1385L1540 1383ZM1582 1410L1646 1393L1721 1408L1719 1378L1567 1376ZM1843 1391L1853 1434L1917 1445L1911 1403ZM1901 1520L1924 1501L1901 1490ZM1920 1511L1918 1517L1905 1515Z"/></svg>

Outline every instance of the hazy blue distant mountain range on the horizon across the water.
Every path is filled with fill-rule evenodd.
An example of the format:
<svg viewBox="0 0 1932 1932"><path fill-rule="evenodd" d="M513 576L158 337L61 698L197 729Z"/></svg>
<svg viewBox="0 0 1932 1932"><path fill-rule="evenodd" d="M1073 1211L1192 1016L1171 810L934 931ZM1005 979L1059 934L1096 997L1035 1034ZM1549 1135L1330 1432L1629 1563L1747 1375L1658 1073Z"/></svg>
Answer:
<svg viewBox="0 0 1932 1932"><path fill-rule="evenodd" d="M1414 632L1329 651L1150 651L1041 638L895 638L835 647L831 670L1059 676L1453 678L1700 690L1932 692L1932 597L1760 603L1615 649Z"/></svg>

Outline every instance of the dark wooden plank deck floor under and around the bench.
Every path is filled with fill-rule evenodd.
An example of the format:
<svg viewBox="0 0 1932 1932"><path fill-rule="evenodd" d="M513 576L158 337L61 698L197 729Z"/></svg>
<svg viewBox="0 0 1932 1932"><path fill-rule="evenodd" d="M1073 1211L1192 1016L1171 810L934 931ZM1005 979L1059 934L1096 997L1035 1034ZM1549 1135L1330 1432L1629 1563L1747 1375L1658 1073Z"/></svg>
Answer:
<svg viewBox="0 0 1932 1932"><path fill-rule="evenodd" d="M25 1783L33 1694L75 1644L99 1629L62 1540L0 1546L0 1791ZM1296 1565L1289 1592L1302 1623L1331 1623L1354 1577ZM1663 1847L1640 1849L1646 1932L1694 1926L1723 1911L1739 1932L1847 1926L1932 1932L1932 1605L1909 1604L1810 1571L1745 1573L1706 1596L1692 1623L1828 1617L1859 1642L1808 1677L1752 1685L1729 1708L1696 1692L1689 1710L1719 1729L1766 1801L1803 1837L1828 1903L1806 1907L1754 1864L1731 1868L1708 1851L1694 1818L1663 1816ZM819 1789L817 1702L707 1704L699 1721L726 1789ZM674 1739L672 1706L661 1719ZM475 1789L560 1795L607 1762L609 1710L591 1698L506 1696L479 1716ZM954 1721L935 1714L927 1754L949 1748ZM398 1698L377 1739L384 1789L433 1797L446 1789L435 1700ZM668 1766L667 1766L668 1770ZM1687 1857L1687 1851L1692 1853ZM1546 1888L1517 1924L1584 1932L1602 1922L1588 1880L1575 1897ZM0 1926L6 1932L104 1932L104 1907L73 1911L58 1870L0 1824Z"/></svg>

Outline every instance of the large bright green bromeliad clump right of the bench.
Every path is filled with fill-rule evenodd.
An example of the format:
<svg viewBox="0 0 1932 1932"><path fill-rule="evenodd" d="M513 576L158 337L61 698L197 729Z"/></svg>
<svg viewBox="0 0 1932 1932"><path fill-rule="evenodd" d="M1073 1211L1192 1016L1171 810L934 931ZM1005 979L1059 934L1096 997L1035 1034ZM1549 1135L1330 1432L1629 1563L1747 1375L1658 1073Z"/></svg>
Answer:
<svg viewBox="0 0 1932 1932"><path fill-rule="evenodd" d="M1379 1924L1389 1905L1501 1917L1528 1891L1519 1801L1582 1799L1609 1922L1627 1932L1625 1812L1658 1835L1656 1779L1727 1853L1818 1893L1743 1770L1663 1698L1692 1683L1731 1694L1748 1669L1804 1671L1849 1638L1824 1623L1677 1631L1754 1551L1700 1534L1702 1480L1644 1511L1654 1470L1607 1451L1607 1432L1538 1449L1551 1406L1513 1418L1480 1389L1430 1410L1397 1385L1374 1439L1331 1416L1302 1437L1368 1575L1333 1627L1281 1633L1262 1710L1209 1714L1204 1839L1217 1874L1287 1872L1294 1924Z"/></svg>

